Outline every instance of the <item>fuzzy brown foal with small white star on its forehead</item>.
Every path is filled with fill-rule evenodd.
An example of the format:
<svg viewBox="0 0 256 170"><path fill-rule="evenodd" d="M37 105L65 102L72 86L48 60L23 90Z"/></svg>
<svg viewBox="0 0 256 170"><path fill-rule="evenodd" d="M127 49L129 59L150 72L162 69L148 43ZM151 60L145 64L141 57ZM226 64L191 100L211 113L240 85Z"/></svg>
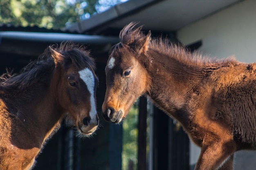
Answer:
<svg viewBox="0 0 256 170"><path fill-rule="evenodd" d="M120 122L146 94L202 148L195 170L232 170L234 152L256 149L256 64L191 54L135 25L110 51L103 117Z"/></svg>

